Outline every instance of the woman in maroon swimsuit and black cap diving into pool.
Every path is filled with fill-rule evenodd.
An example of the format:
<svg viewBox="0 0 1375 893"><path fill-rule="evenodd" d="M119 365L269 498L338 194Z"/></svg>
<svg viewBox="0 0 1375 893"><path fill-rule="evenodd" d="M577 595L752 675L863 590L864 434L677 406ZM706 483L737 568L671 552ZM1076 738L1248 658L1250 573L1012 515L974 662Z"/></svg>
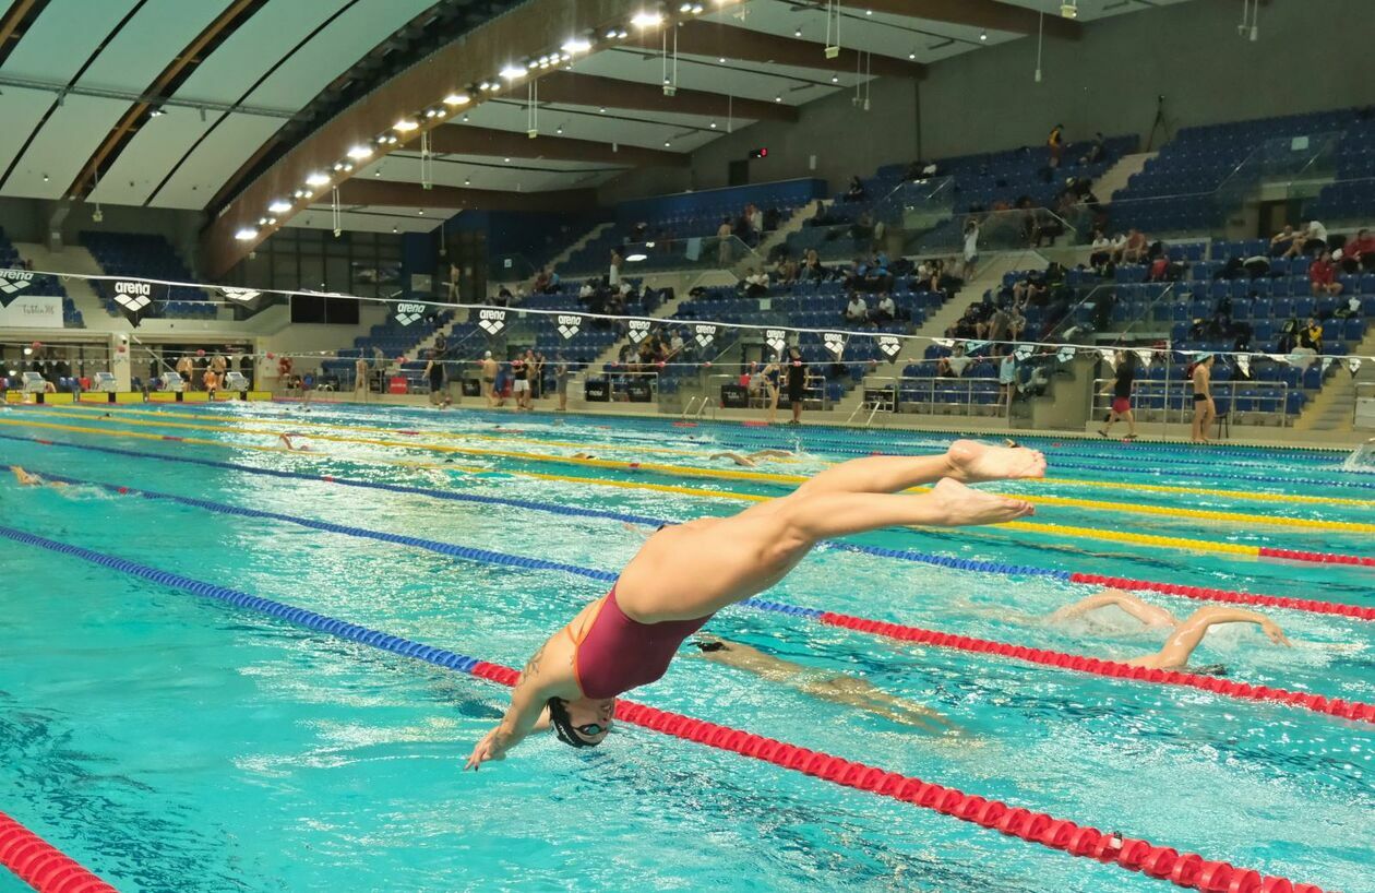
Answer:
<svg viewBox="0 0 1375 893"><path fill-rule="evenodd" d="M844 462L732 517L659 530L606 596L535 651L510 709L465 768L502 760L546 716L572 747L602 743L619 695L659 680L678 647L716 611L776 585L817 542L902 524L964 527L1026 517L1034 512L1030 504L965 483L1044 476L1038 451L956 440L943 455ZM939 483L930 493L902 493L931 482Z"/></svg>

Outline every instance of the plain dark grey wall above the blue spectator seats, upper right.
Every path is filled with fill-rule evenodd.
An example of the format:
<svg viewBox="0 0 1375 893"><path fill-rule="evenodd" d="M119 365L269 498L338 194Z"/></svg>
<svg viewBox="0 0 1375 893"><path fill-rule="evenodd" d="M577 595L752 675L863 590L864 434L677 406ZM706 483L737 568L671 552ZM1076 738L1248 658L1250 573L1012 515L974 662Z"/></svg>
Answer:
<svg viewBox="0 0 1375 893"><path fill-rule="evenodd" d="M1242 40L1242 4L1191 0L1085 25L1079 41L1035 37L953 56L924 81L881 78L870 110L842 92L802 107L796 124L762 122L693 153L686 171L646 169L602 189L622 201L726 183L726 165L767 146L752 179L821 176L832 191L884 164L1041 144L1050 127L1070 140L1138 133L1143 146L1166 96L1181 127L1375 105L1372 0L1269 0L1260 40ZM1159 138L1156 147L1159 147ZM817 157L815 169L810 155Z"/></svg>

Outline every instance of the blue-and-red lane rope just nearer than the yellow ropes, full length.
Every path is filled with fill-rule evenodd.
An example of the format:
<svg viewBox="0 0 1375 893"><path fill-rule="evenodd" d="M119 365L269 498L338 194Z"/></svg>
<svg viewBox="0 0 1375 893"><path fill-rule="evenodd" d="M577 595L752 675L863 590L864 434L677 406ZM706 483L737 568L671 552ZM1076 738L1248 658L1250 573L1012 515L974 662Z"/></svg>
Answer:
<svg viewBox="0 0 1375 893"><path fill-rule="evenodd" d="M542 502L536 499L516 499L510 497L488 497L469 493L455 493L451 490L434 490L430 487L411 487L407 484L392 484L384 482L373 480L353 480L348 477L337 477L331 475L308 475L304 472L293 472L272 468L256 468L252 465L239 465L236 462L220 462L214 460L202 460L190 455L169 455L161 453L144 453L140 450L125 450L120 447L102 447L89 443L54 443L52 440L44 440L38 438L21 438L16 435L0 433L3 440L16 440L21 443L40 443L43 446L56 446L70 450L85 450L92 453L103 453L107 455L126 455L132 458L150 458L165 462L179 462L186 465L197 465L201 468L219 468L235 472L245 472L250 475L260 475L268 477L279 477L289 480L309 480L309 482L323 482L334 483L345 487L360 487L368 490L381 490L386 493L407 494L407 495L422 495L434 499L446 499L450 502L472 502L478 505L503 505L509 508L528 509L535 512L544 512L550 515L562 515L573 517L597 517L605 520L626 521L630 524L644 524L646 527L659 527L661 524L674 523L668 519L649 517L644 515L632 515L627 512L615 512L606 509L586 509L578 506L558 505L554 502ZM685 488L675 488L685 490ZM692 491L694 495L703 494L710 495L710 491ZM1097 586L1115 586L1118 589L1133 589L1140 592L1156 592L1166 596L1180 596L1185 599L1199 600L1199 601L1218 601L1225 604L1250 604L1250 605L1265 605L1273 608L1288 608L1294 611L1306 611L1310 614L1328 614L1334 616L1348 616L1358 621L1375 621L1375 607L1364 607L1354 604L1345 604L1341 601L1320 601L1314 599L1290 599L1283 596L1266 596L1258 593L1247 592L1233 592L1228 589L1216 589L1206 586L1192 586L1181 583L1162 583L1154 581L1130 579L1123 577L1106 577L1100 574L1081 574L1071 571L1060 571L1050 568L1033 567L1028 564L1008 564L1004 561L984 561L980 559L957 559L952 556L934 555L927 552L916 552L912 549L887 549L883 546L870 546L864 544L851 544L830 541L825 544L829 549L842 549L847 552L857 552L862 555L874 555L880 557L898 559L905 561L914 561L920 564L932 564L936 567L946 567L952 570L972 571L980 574L1001 574L1001 575L1018 575L1018 577L1049 577L1053 579L1060 579L1064 582L1097 585Z"/></svg>

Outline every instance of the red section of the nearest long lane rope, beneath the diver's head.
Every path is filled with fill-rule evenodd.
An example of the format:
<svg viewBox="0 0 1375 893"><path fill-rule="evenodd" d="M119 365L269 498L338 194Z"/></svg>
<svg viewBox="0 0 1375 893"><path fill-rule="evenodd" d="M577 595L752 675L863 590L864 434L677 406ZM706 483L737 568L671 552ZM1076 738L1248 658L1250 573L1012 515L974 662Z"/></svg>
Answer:
<svg viewBox="0 0 1375 893"><path fill-rule="evenodd" d="M502 685L514 685L520 678L520 673L516 670L485 660L478 660L470 673ZM1310 883L1294 883L1286 878L1262 875L1250 868L1236 868L1225 861L1211 861L1198 853L1181 853L1169 846L1156 846L1150 841L1119 838L1104 834L1092 826L1075 824L1049 813L1013 808L997 799L965 794L961 790L923 782L914 776L887 772L773 738L751 735L729 725L694 720L681 713L617 700L616 718L716 750L762 760L833 784L891 797L1071 856L1096 859L1128 871L1140 871L1151 878L1169 881L1200 893L1324 893L1321 887Z"/></svg>

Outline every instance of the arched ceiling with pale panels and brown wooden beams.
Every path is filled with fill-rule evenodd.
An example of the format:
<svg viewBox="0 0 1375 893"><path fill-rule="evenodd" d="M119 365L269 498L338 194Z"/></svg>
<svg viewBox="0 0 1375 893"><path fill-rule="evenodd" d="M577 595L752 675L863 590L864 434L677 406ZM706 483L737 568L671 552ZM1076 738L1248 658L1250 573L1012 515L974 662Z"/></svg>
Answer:
<svg viewBox="0 0 1375 893"><path fill-rule="evenodd" d="M1180 1L1078 6L1081 21L1092 21ZM395 121L478 78L495 81L498 66L481 72L476 58L538 58L554 48L538 41L547 44L557 28L597 39L587 55L476 91L474 100L485 100L422 121L429 164L411 133L374 144L374 157L334 177L368 182L341 194L359 228L428 230L444 215L421 208L473 206L494 193L573 201L575 190L631 166L683 164L726 131L795 118L798 106L873 76L920 77L924 65L1042 25L1078 36L1078 25L1059 17L1059 0L833 3L828 14L828 0L700 0L700 12L679 0L10 0L0 18L0 195L228 211L235 222L226 227L252 224L264 208L246 205L265 206L263 195L280 193L264 191L270 186L342 157L338 135L351 120L385 113ZM678 26L635 33L626 25L656 6ZM617 22L626 39L604 40ZM822 48L835 29L844 51L832 61ZM670 40L678 41L674 67L674 54L664 58ZM415 95L415 70L428 63L474 74L432 84L421 105L378 111ZM663 95L666 74L675 98ZM525 138L531 83L542 91L539 139ZM353 129L371 142L388 125ZM302 158L323 144L333 154ZM373 204L348 202L362 197ZM280 223L333 226L318 197L294 202Z"/></svg>

